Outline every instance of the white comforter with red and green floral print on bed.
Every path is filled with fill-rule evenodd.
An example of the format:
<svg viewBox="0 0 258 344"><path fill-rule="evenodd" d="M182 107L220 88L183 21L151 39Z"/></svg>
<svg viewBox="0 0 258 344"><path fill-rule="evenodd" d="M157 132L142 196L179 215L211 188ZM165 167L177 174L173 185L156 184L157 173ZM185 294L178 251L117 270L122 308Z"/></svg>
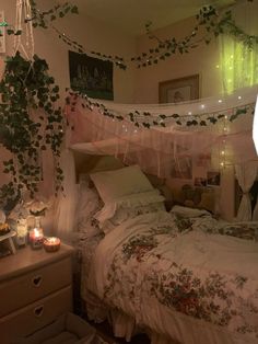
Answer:
<svg viewBox="0 0 258 344"><path fill-rule="evenodd" d="M127 220L97 245L89 286L172 337L159 316L209 323L231 333L228 343L235 335L258 343L258 242L233 237L212 217L160 211Z"/></svg>

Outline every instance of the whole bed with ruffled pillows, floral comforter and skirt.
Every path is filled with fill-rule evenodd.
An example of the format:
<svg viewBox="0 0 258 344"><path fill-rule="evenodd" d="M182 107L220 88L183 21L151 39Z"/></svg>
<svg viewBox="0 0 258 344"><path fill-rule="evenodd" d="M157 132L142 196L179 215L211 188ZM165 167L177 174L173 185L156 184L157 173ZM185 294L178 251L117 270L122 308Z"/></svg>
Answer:
<svg viewBox="0 0 258 344"><path fill-rule="evenodd" d="M75 238L89 317L108 317L127 341L140 328L152 344L258 343L257 223L218 220L202 199L167 211L162 186L138 165L81 179Z"/></svg>

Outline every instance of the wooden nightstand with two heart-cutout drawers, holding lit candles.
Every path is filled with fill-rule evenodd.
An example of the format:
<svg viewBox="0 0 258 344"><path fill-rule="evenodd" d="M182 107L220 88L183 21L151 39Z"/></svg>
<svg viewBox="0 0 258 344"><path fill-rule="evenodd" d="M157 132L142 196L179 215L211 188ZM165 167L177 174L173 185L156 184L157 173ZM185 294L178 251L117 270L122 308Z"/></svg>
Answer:
<svg viewBox="0 0 258 344"><path fill-rule="evenodd" d="M0 259L0 342L10 344L72 311L73 249L30 246Z"/></svg>

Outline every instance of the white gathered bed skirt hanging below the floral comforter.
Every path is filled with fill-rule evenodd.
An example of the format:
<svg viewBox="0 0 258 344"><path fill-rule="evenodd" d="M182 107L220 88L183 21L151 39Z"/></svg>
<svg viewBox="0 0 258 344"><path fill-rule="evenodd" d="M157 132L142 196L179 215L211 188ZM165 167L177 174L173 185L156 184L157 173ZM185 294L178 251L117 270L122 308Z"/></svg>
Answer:
<svg viewBox="0 0 258 344"><path fill-rule="evenodd" d="M89 290L83 293L83 299L90 320L99 323L108 319L114 335L124 337L127 342L130 342L137 333L146 333L151 344L254 344L254 341L250 342L246 336L228 333L228 331L213 324L174 311L167 313L165 307L164 312L161 311L155 317L156 329L161 330L159 332L150 329L146 323L137 323L134 318L125 314L120 310L108 308ZM152 303L150 308L152 318L154 309L155 307ZM166 331L166 334L163 331ZM183 340L176 340L178 337Z"/></svg>

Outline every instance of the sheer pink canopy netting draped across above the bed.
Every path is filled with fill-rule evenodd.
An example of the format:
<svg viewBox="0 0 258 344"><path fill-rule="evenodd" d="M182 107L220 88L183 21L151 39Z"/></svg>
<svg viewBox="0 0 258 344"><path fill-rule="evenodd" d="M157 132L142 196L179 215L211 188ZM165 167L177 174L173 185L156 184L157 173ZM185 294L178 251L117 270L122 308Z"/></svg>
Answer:
<svg viewBox="0 0 258 344"><path fill-rule="evenodd" d="M90 154L116 156L126 164L137 163L162 177L171 175L173 165L184 170L189 159L208 157L218 167L222 160L223 164L248 161L256 158L251 125L257 90L256 85L227 98L163 105L104 104L95 100L94 104L78 96L66 108L72 128L69 146ZM236 114L241 115L232 121ZM218 122L212 124L212 118ZM198 124L187 126L192 121Z"/></svg>

